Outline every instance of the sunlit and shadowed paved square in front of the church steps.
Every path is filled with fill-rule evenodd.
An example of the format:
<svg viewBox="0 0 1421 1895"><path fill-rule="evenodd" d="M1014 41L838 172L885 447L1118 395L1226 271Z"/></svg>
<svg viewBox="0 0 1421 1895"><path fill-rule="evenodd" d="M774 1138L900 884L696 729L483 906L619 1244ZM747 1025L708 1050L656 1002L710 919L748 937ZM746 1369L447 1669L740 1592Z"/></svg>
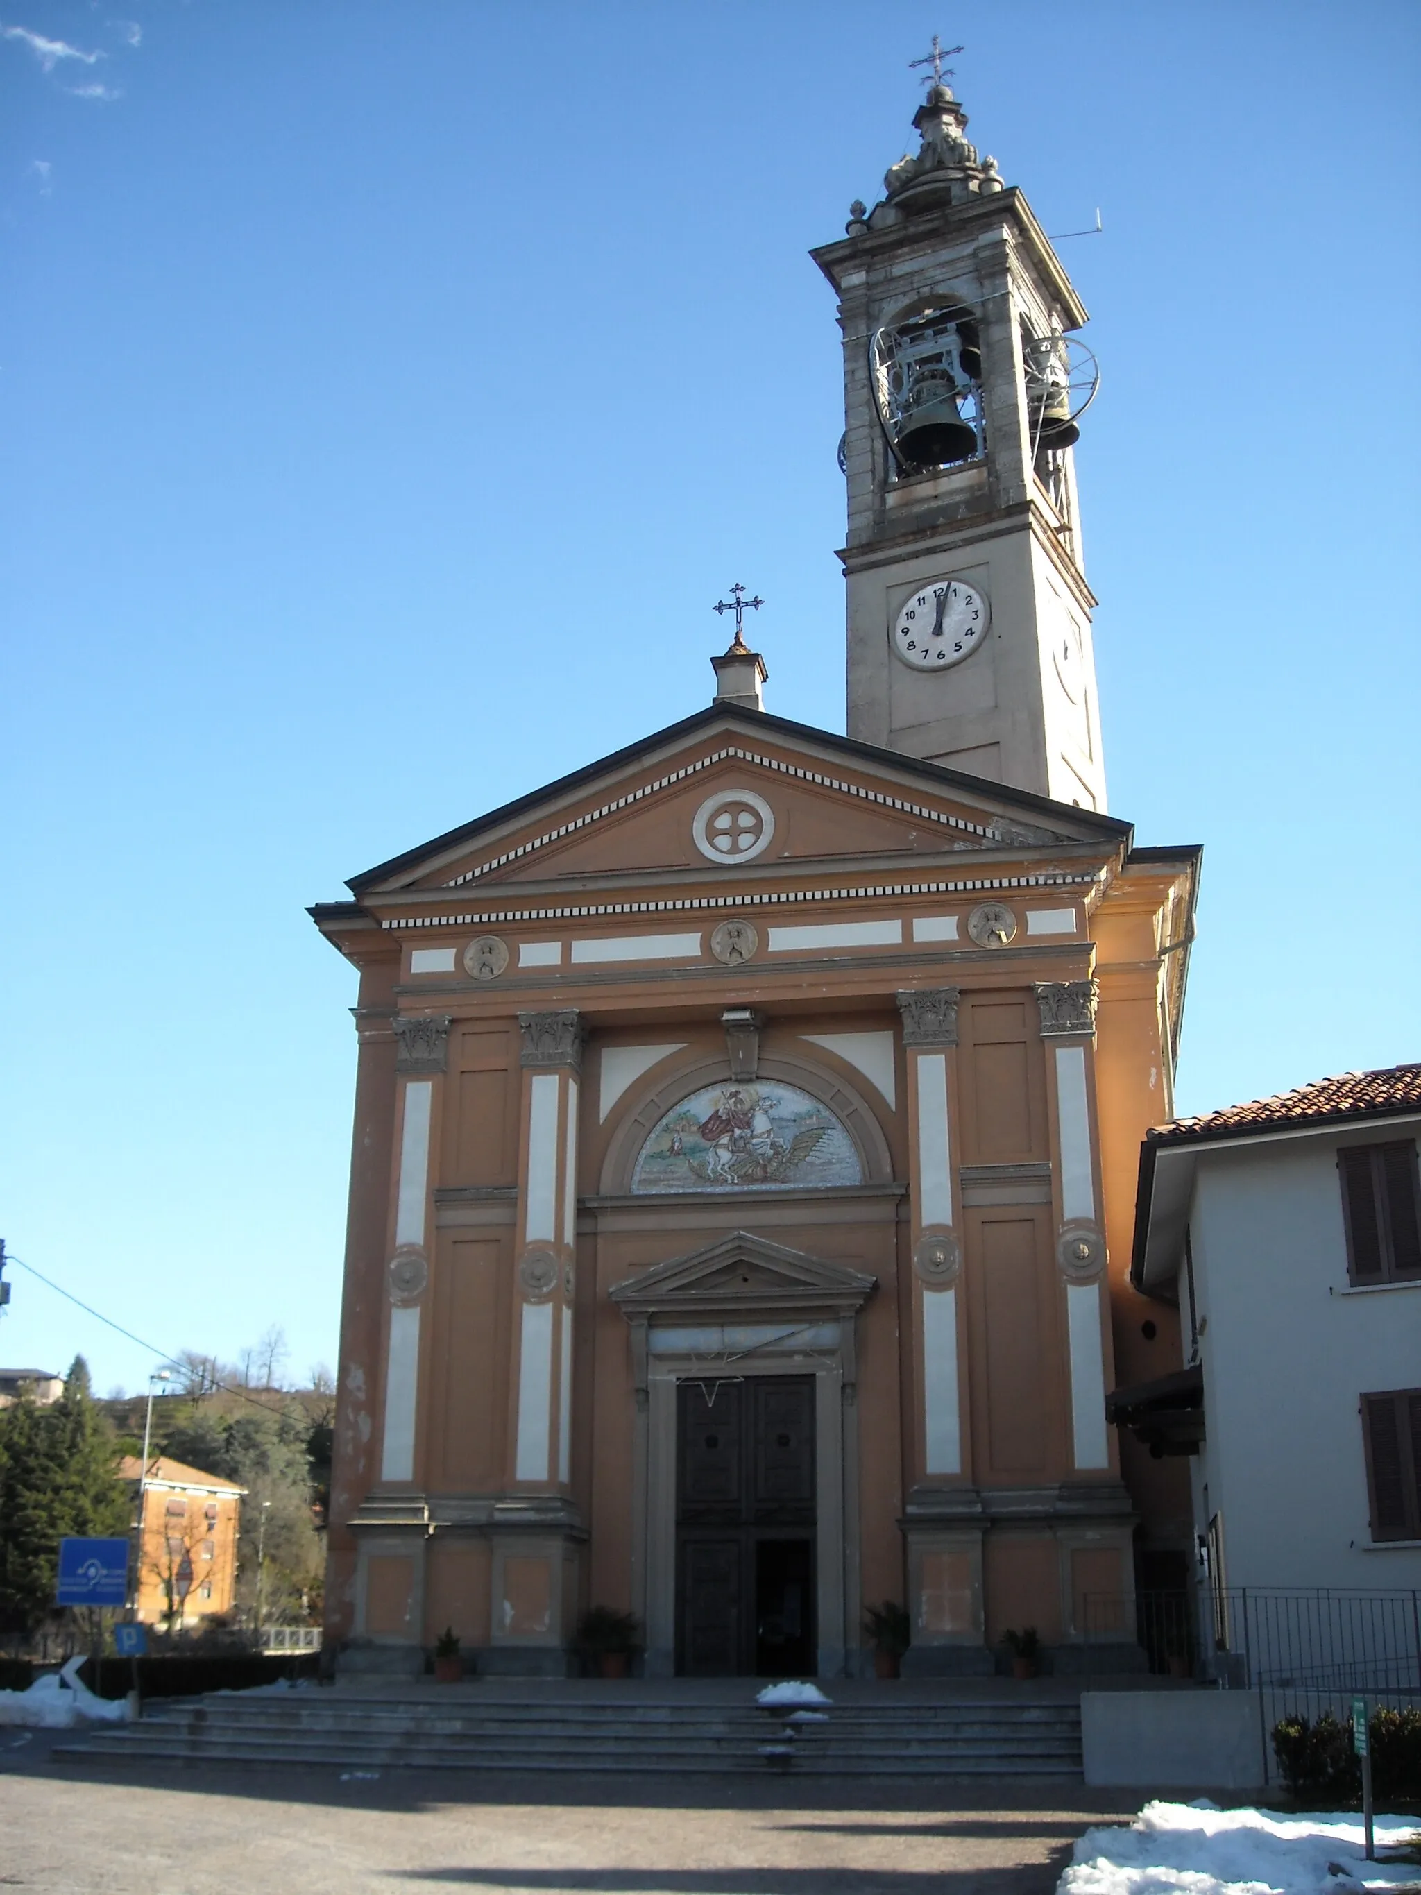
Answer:
<svg viewBox="0 0 1421 1895"><path fill-rule="evenodd" d="M866 1783L64 1762L0 1732L0 1887L45 1895L1050 1895L1139 1795Z"/></svg>

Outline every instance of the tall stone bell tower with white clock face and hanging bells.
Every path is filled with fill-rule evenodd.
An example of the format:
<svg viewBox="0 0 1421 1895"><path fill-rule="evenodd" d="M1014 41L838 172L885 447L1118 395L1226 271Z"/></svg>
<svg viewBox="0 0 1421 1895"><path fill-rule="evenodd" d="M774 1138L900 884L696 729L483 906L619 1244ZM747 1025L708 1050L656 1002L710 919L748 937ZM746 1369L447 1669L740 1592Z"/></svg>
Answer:
<svg viewBox="0 0 1421 1895"><path fill-rule="evenodd" d="M813 252L839 296L849 735L1105 811L1072 445L1095 362L1019 190L934 78L921 148Z"/></svg>

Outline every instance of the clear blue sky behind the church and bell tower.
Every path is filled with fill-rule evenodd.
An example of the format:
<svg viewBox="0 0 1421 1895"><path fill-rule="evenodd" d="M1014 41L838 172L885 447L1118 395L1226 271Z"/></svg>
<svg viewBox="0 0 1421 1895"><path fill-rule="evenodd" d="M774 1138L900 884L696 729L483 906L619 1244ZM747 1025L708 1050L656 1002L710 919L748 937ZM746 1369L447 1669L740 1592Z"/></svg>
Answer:
<svg viewBox="0 0 1421 1895"><path fill-rule="evenodd" d="M332 1361L354 974L305 904L705 703L737 578L769 709L843 728L805 252L934 30L1044 227L1103 210L1110 807L1207 845L1180 1110L1421 1054L1410 0L0 0L17 1256ZM142 1383L11 1275L0 1359Z"/></svg>

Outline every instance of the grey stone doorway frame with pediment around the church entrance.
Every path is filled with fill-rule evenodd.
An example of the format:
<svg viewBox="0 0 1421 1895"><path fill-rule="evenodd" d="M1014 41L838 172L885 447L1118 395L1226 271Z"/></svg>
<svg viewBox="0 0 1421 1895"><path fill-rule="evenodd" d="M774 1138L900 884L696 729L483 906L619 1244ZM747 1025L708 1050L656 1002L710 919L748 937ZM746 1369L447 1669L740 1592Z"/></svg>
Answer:
<svg viewBox="0 0 1421 1895"><path fill-rule="evenodd" d="M737 1230L610 1292L631 1326L633 1609L646 1675L676 1652L676 1383L815 1378L815 1624L818 1677L858 1649L858 1427L854 1319L877 1277Z"/></svg>

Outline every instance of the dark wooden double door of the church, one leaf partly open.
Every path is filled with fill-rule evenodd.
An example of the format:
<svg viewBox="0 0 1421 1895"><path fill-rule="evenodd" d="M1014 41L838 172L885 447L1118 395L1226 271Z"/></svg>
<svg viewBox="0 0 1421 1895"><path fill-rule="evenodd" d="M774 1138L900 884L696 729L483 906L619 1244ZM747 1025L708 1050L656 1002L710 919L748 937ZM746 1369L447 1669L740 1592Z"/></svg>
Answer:
<svg viewBox="0 0 1421 1895"><path fill-rule="evenodd" d="M813 1677L815 1378L676 1389L676 1671Z"/></svg>

